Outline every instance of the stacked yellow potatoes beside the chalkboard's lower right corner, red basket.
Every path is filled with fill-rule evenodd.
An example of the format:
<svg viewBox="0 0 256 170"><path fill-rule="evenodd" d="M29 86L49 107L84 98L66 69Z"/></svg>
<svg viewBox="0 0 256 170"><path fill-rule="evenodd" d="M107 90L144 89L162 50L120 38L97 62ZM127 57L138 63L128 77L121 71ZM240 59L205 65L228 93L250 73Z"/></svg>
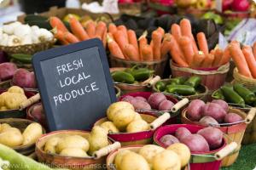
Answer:
<svg viewBox="0 0 256 170"><path fill-rule="evenodd" d="M133 105L125 101L113 103L108 107L108 122L103 122L100 126L108 133L137 133L149 129L148 122L138 114Z"/></svg>

